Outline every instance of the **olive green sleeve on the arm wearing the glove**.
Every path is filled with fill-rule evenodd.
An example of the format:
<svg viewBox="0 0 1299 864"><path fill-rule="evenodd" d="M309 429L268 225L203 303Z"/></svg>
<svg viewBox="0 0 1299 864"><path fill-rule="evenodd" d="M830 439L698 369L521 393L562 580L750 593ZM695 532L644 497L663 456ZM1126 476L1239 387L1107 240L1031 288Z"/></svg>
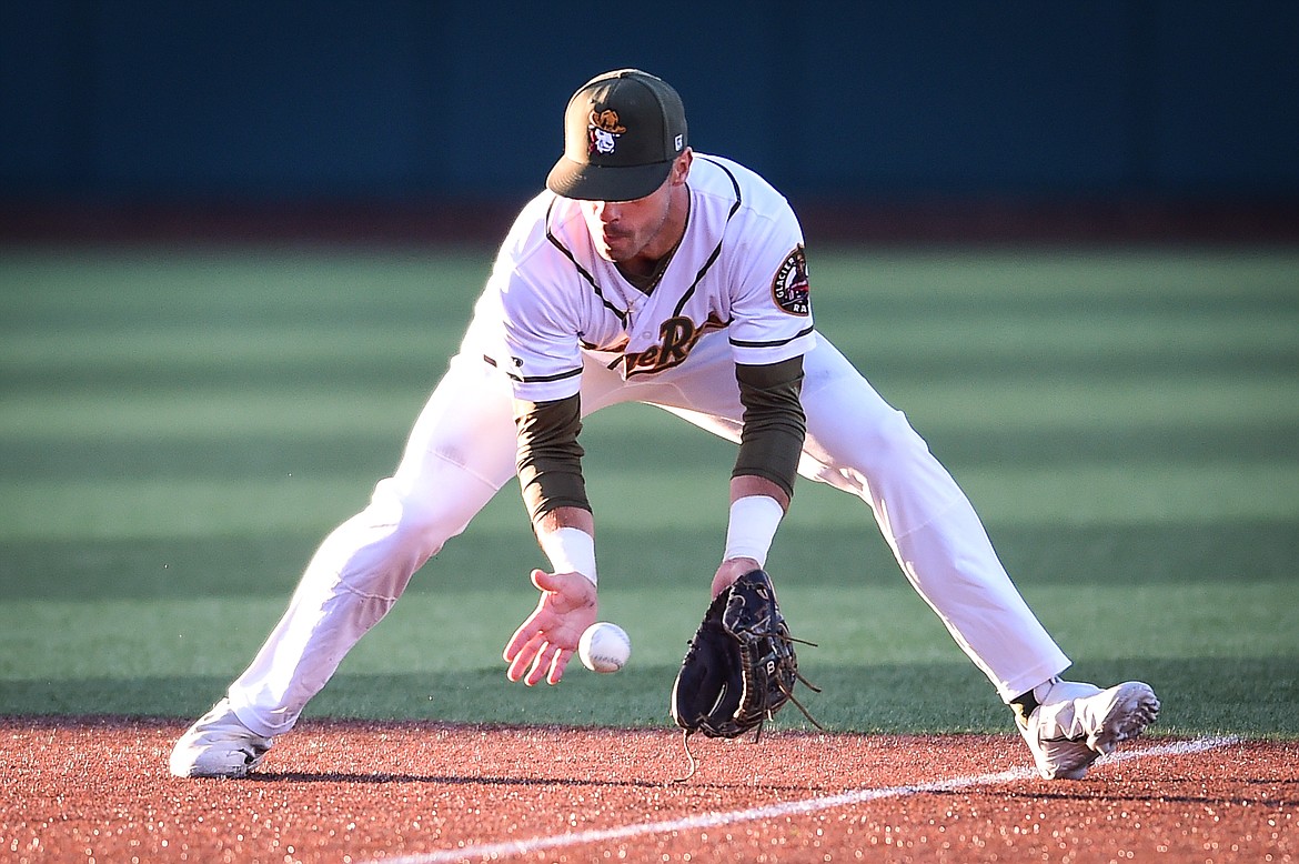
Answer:
<svg viewBox="0 0 1299 864"><path fill-rule="evenodd" d="M792 496L807 437L807 417L799 400L803 357L761 366L735 364L735 379L744 405L744 427L731 477L763 477Z"/></svg>

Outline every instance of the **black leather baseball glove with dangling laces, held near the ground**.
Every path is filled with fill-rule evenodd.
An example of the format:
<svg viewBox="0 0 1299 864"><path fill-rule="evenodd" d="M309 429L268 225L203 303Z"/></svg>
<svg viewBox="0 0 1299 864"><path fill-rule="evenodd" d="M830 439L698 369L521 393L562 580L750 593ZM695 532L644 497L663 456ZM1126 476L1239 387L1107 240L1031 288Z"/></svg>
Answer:
<svg viewBox="0 0 1299 864"><path fill-rule="evenodd" d="M738 738L756 729L761 735L763 722L787 702L821 728L794 696L796 681L820 692L799 674L795 642L803 641L790 635L765 570L746 573L713 599L672 687L672 718L686 733L687 754L696 731Z"/></svg>

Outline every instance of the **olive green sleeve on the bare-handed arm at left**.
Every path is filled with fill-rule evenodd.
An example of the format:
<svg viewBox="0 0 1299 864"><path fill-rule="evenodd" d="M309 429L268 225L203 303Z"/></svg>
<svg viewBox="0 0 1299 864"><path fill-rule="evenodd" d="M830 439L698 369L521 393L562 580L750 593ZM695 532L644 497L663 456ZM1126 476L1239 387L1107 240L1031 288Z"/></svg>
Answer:
<svg viewBox="0 0 1299 864"><path fill-rule="evenodd" d="M514 400L518 452L514 466L527 515L536 524L557 507L591 509L582 478L582 405L577 395L555 401Z"/></svg>

